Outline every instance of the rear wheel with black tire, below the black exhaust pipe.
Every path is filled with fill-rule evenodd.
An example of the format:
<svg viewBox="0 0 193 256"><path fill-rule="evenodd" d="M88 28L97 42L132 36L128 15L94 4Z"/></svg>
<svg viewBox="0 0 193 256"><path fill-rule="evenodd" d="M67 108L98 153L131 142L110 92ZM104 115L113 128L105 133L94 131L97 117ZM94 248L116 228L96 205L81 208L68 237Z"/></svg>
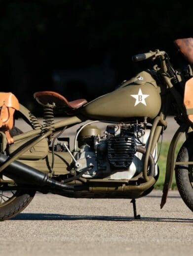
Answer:
<svg viewBox="0 0 193 256"><path fill-rule="evenodd" d="M23 133L17 127L10 130L11 136ZM10 219L24 210L34 198L36 191L3 191L5 184L0 184L0 221Z"/></svg>

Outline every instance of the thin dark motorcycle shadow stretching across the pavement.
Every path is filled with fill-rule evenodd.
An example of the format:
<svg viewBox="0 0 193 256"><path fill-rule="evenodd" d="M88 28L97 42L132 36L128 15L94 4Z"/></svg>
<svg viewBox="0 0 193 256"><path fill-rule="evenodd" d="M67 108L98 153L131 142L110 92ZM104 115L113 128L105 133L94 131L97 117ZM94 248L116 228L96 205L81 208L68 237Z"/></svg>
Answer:
<svg viewBox="0 0 193 256"><path fill-rule="evenodd" d="M11 220L101 220L101 221L155 221L155 222L187 222L193 223L193 219L186 218L159 218L159 217L134 217L123 216L93 216L93 215L63 215L51 213L20 213Z"/></svg>

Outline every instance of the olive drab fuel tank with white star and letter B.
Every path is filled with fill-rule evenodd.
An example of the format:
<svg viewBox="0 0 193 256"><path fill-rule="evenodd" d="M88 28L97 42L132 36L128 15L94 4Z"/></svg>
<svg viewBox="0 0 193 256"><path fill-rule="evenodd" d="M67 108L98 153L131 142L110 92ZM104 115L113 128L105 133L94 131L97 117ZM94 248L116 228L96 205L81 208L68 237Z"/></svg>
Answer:
<svg viewBox="0 0 193 256"><path fill-rule="evenodd" d="M151 74L143 71L115 91L87 103L81 112L92 119L123 121L144 116L153 119L160 107L160 88Z"/></svg>

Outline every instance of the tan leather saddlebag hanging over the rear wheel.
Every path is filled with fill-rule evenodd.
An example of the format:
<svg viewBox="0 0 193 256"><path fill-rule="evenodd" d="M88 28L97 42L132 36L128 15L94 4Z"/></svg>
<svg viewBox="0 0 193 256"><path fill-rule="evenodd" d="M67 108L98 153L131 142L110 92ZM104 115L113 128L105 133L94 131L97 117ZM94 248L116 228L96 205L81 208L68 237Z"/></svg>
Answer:
<svg viewBox="0 0 193 256"><path fill-rule="evenodd" d="M5 132L9 144L13 139L9 130L13 128L13 114L19 110L19 102L12 93L0 93L0 130Z"/></svg>

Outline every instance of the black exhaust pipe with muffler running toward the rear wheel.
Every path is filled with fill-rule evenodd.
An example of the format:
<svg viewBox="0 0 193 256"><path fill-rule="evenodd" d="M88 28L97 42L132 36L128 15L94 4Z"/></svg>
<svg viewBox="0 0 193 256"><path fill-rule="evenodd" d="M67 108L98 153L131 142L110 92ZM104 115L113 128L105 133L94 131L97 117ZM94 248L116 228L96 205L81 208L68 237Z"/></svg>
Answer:
<svg viewBox="0 0 193 256"><path fill-rule="evenodd" d="M0 164L5 163L9 159L9 156L0 154ZM10 179L16 181L22 180L27 184L30 183L38 186L48 186L52 189L59 189L66 192L88 191L88 187L86 185L68 185L65 183L61 183L59 181L49 178L46 173L43 173L17 160L10 163L2 171L2 173Z"/></svg>

